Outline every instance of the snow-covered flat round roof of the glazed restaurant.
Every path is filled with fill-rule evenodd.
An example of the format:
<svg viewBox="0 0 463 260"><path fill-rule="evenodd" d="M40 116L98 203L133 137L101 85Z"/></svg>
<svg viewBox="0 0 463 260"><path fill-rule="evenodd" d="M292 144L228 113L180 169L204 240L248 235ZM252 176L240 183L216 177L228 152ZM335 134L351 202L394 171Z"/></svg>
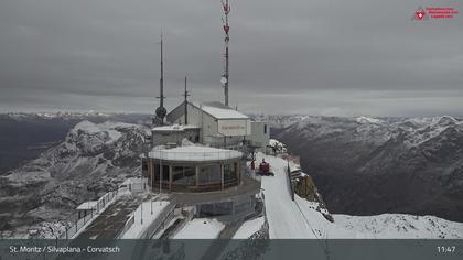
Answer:
<svg viewBox="0 0 463 260"><path fill-rule="evenodd" d="M149 152L149 156L166 161L205 162L238 159L243 156L243 153L227 149L190 145L172 149L153 149Z"/></svg>

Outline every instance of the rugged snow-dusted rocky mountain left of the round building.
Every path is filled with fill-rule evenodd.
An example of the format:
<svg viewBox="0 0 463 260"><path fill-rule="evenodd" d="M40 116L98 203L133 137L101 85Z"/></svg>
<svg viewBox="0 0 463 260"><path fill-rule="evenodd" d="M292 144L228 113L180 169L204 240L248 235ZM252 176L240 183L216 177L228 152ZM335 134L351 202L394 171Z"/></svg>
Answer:
<svg viewBox="0 0 463 260"><path fill-rule="evenodd" d="M64 141L0 176L0 230L69 221L74 209L140 173L148 129L139 124L77 123Z"/></svg>

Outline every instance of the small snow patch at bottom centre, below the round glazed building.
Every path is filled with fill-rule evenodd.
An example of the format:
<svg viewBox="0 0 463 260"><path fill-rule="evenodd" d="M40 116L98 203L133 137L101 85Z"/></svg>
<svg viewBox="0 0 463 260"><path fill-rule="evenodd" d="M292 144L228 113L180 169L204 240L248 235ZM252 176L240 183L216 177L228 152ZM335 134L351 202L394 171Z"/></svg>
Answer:
<svg viewBox="0 0 463 260"><path fill-rule="evenodd" d="M189 221L175 236L175 239L214 239L217 238L225 225L217 219L194 218Z"/></svg>

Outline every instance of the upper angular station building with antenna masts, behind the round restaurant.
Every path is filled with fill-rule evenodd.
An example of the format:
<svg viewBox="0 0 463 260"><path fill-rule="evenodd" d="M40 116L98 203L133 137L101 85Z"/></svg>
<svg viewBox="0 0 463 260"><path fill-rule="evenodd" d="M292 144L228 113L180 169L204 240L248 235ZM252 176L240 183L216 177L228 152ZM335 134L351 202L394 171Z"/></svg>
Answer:
<svg viewBox="0 0 463 260"><path fill-rule="evenodd" d="M229 23L230 13L229 0L222 0L223 30L225 33L225 67L222 83L224 87L224 102L213 100L197 102L190 101L191 93L187 90L187 78L184 78L184 100L170 112L164 107L164 52L163 36L161 33L161 77L159 107L155 110L153 120L152 145L180 145L181 140L187 140L216 148L227 148L236 145L250 145L266 150L270 131L266 122L254 122L249 117L238 111L237 108L229 107ZM168 126L164 126L168 124ZM177 126L173 129L171 126ZM183 124L182 127L179 127ZM157 128L155 126L161 128ZM164 127L162 127L164 126ZM252 130L254 126L254 130ZM259 130L257 130L259 129ZM181 130L181 131L180 131Z"/></svg>

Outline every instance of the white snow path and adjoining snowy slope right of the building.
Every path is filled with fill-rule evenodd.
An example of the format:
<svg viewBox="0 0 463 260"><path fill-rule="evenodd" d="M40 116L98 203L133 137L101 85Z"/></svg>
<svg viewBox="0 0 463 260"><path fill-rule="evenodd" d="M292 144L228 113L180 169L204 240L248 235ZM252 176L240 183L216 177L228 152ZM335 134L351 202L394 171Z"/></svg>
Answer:
<svg viewBox="0 0 463 260"><path fill-rule="evenodd" d="M294 195L294 202L291 201L286 173L288 163L283 159L259 153L258 162L262 158L270 163L274 173L274 176L261 177L270 238L463 238L462 223L434 216L333 215L335 223L331 223L315 210L315 203L298 195ZM243 231L249 229L245 225Z"/></svg>

